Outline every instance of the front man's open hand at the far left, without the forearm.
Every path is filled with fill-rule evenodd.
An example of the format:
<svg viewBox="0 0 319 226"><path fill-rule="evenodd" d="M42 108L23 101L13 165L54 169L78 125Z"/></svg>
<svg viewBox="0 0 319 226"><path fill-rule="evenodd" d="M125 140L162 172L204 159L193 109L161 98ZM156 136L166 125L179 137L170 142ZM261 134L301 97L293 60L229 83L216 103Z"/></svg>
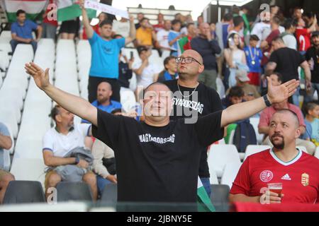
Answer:
<svg viewBox="0 0 319 226"><path fill-rule="evenodd" d="M40 66L32 62L26 64L24 69L26 69L26 73L33 77L35 84L41 90L44 90L48 85L50 85L49 69L45 69L45 71L43 71Z"/></svg>

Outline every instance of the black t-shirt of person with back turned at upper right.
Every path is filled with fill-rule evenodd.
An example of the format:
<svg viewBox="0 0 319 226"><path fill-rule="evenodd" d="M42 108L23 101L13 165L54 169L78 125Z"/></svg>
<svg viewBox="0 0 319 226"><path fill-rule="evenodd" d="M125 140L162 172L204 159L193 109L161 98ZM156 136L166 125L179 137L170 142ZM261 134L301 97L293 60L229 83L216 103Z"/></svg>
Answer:
<svg viewBox="0 0 319 226"><path fill-rule="evenodd" d="M277 64L274 71L283 76L283 83L291 79L299 79L298 66L305 61L305 58L295 49L288 47L277 49L270 55L269 62Z"/></svg>

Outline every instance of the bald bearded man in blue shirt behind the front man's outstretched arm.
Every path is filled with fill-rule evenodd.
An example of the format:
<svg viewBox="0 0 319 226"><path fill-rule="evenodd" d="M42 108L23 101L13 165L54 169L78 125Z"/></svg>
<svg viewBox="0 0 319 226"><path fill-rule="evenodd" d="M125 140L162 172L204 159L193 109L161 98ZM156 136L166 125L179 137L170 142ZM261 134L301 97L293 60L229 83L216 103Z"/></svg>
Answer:
<svg viewBox="0 0 319 226"><path fill-rule="evenodd" d="M94 102L92 102L91 105L108 113L111 113L114 109L121 109L121 103L115 100L111 100L111 95L111 84L101 82L97 88L97 100L94 100ZM89 121L82 119L82 123L89 123Z"/></svg>

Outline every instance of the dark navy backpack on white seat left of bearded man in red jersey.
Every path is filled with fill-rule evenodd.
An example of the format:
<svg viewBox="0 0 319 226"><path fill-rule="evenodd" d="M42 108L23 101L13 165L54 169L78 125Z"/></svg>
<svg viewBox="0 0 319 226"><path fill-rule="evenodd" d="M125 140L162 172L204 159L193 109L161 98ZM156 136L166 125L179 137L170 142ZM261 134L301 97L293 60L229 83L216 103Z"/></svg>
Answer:
<svg viewBox="0 0 319 226"><path fill-rule="evenodd" d="M249 119L237 121L233 144L236 146L239 153L245 153L247 145L257 144L256 133L254 132L254 127L250 124Z"/></svg>

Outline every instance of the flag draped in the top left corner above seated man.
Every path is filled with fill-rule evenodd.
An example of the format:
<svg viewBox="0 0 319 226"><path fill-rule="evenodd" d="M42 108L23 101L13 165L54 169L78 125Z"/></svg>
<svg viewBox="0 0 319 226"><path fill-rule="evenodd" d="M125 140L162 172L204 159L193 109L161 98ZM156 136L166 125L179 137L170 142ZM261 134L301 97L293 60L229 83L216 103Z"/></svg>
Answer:
<svg viewBox="0 0 319 226"><path fill-rule="evenodd" d="M47 6L47 0L1 0L1 8L6 11L9 23L16 21L16 11L26 11L30 20L42 20L42 13Z"/></svg>

